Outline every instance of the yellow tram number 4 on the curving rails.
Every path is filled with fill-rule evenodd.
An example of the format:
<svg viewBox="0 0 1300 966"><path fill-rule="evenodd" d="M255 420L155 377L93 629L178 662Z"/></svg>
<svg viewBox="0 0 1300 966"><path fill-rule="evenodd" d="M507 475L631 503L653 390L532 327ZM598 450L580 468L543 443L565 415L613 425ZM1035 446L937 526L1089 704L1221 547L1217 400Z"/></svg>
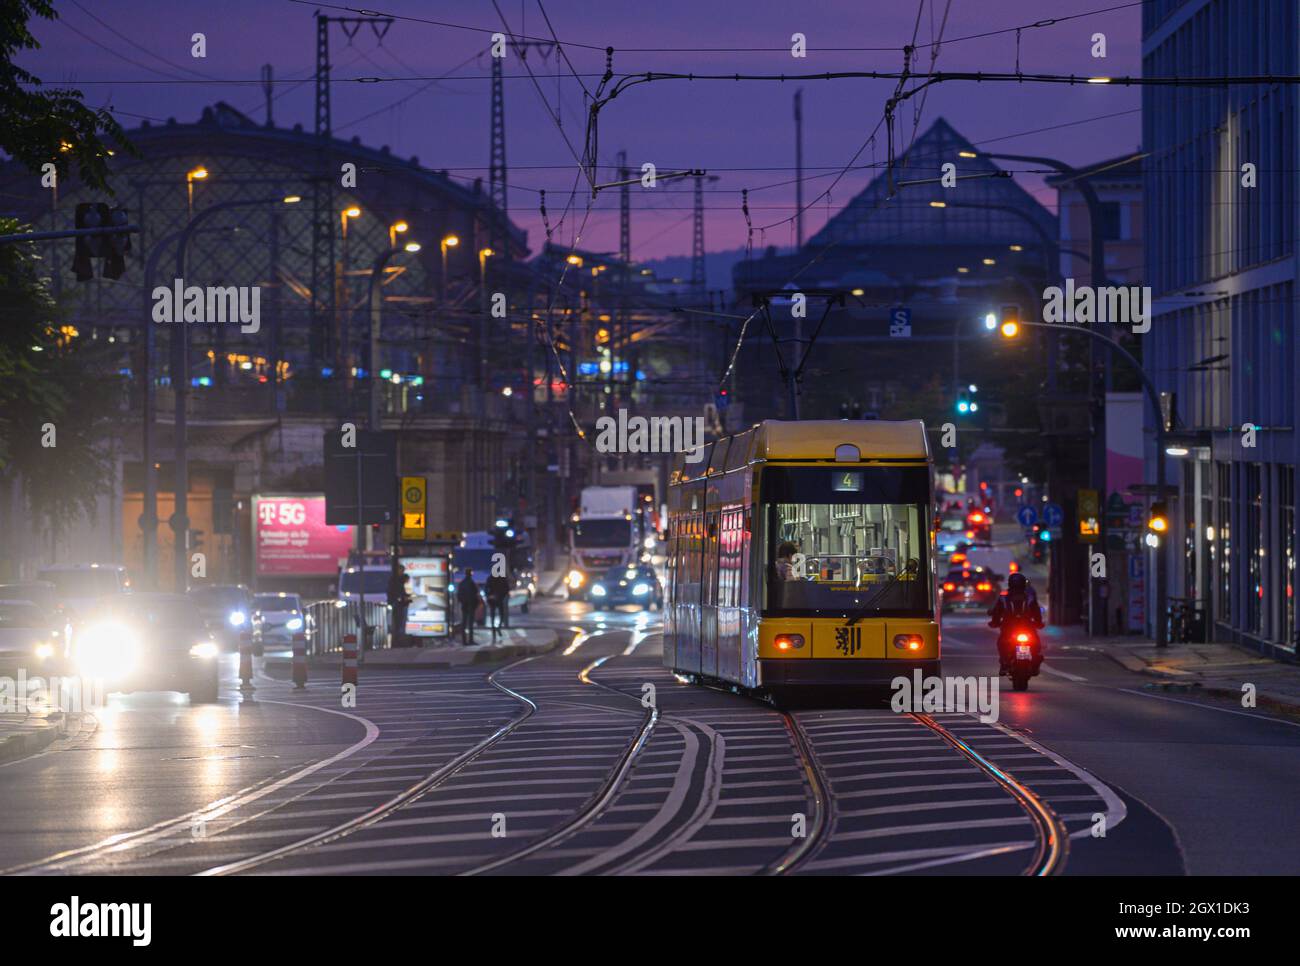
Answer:
<svg viewBox="0 0 1300 966"><path fill-rule="evenodd" d="M670 478L664 666L767 693L937 675L932 507L920 420L706 443Z"/></svg>

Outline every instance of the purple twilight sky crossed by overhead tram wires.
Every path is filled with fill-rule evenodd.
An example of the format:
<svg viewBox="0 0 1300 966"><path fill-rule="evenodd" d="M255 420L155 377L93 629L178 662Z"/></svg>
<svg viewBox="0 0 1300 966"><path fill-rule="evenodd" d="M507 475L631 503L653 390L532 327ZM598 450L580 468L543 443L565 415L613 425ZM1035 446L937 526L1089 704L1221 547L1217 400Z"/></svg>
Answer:
<svg viewBox="0 0 1300 966"><path fill-rule="evenodd" d="M348 43L332 27L335 78L386 77L384 83L335 83L333 125L337 137L360 135L368 144L389 144L400 157L419 155L421 164L446 168L472 181L488 174L490 33L504 16L517 35L571 44L569 61L581 83L594 90L604 66L603 48L612 46L616 72L681 73L815 73L823 70L897 70L898 48L913 36L918 0L382 0L370 9L398 17L378 43L363 27ZM365 4L356 3L358 8ZM351 16L295 0L55 0L61 22L35 23L43 49L21 62L47 85L79 85L92 105L112 105L126 126L140 117L196 120L205 104L226 100L264 118L259 85L263 64L276 77L300 81L311 75L315 57L312 13ZM940 70L1010 72L1015 68L1015 33L970 35L1069 17L1086 17L1027 29L1020 35L1020 68L1027 73L1080 75L1138 74L1140 4L1123 0L920 0L918 44L939 34L948 8L937 66ZM1115 8L1115 9L1106 9ZM98 18L98 20L96 20ZM458 25L458 26L451 26ZM462 29L472 27L472 29ZM116 31L116 33L114 33ZM809 53L790 56L790 35L807 36ZM191 57L190 38L203 33L207 57ZM1106 59L1091 56L1092 36L1105 34ZM818 47L892 48L885 51L819 51ZM629 48L675 48L640 49ZM681 48L744 48L742 52ZM779 48L779 49L759 49ZM625 51L625 52L624 52ZM918 52L918 69L928 68L931 48ZM584 143L585 107L578 79L554 52L529 55L536 82L517 59L506 64L506 130L511 217L529 231L536 251L543 238L537 211L538 189L546 190L551 221L559 218L573 187L573 150ZM560 77L556 77L559 72ZM92 83L94 82L94 83ZM621 148L634 169L654 161L659 172L706 168L720 179L706 198L710 251L745 244L740 191L750 190L754 244L793 243L794 165L792 96L803 88L805 203L818 198L880 121L888 81L664 82L633 87L601 114L599 159L612 163ZM898 113L898 138L911 137L920 98ZM958 131L988 150L1046 153L1084 164L1134 150L1140 139L1140 95L1136 88L1105 86L974 85L933 87L920 127L946 117ZM559 125L556 124L556 114ZM312 126L312 85L280 83L274 103L277 125ZM1052 130L1043 130L1052 129ZM883 133L881 127L881 133ZM566 142L567 138L567 142ZM885 157L884 138L863 151L858 164ZM213 172L217 176L217 172ZM844 174L829 198L805 216L811 235L827 215L842 207L870 179L871 172ZM604 179L612 179L608 169ZM1035 176L1020 183L1052 204L1054 192ZM585 212L580 189L575 213L558 241L571 241ZM662 183L632 194L633 257L655 259L690 251L690 185ZM618 196L595 200L581 246L618 248Z"/></svg>

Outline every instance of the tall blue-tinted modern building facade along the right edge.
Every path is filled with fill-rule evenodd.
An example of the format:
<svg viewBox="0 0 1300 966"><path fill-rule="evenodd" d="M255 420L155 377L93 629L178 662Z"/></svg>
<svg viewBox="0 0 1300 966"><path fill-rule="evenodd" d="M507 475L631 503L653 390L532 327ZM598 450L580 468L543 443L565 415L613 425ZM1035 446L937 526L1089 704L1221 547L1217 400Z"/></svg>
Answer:
<svg viewBox="0 0 1300 966"><path fill-rule="evenodd" d="M1291 3L1157 0L1150 77L1295 74ZM1296 654L1300 124L1291 85L1143 88L1148 373L1171 429L1169 593L1205 636ZM1153 415L1147 407L1147 460ZM1148 478L1150 473L1148 472Z"/></svg>

